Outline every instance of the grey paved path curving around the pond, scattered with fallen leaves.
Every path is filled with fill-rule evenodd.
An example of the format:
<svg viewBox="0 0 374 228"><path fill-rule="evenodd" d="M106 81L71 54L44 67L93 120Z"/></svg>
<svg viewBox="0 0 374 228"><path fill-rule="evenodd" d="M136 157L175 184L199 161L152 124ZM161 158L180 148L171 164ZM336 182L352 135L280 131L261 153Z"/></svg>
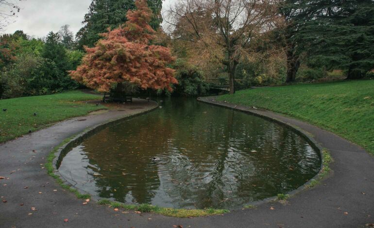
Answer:
<svg viewBox="0 0 374 228"><path fill-rule="evenodd" d="M51 148L65 138L108 119L141 112L145 108L143 105L150 104L136 102L123 109L125 112L110 111L73 118L0 145L0 176L10 178L0 179L1 200L7 200L6 203L0 201L0 227L173 228L173 225L182 225L183 228L367 228L365 224L374 223L373 156L330 132L260 110L252 111L310 132L317 142L331 151L335 159L331 164L334 170L331 177L311 190L294 195L287 205L264 203L257 209L191 219L150 213L121 213L92 201L83 205L82 200L64 191L42 169ZM238 108L247 110L246 107ZM77 121L79 119L86 120ZM23 206L20 206L21 203ZM32 211L32 207L37 211ZM275 209L270 210L270 207ZM68 222L64 222L65 218Z"/></svg>

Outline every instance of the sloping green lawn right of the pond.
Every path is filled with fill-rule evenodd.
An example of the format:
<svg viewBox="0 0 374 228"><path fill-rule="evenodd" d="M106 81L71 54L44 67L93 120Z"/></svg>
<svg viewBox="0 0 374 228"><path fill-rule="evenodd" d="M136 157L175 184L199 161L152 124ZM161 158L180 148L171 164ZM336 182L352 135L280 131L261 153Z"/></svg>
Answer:
<svg viewBox="0 0 374 228"><path fill-rule="evenodd" d="M374 155L374 80L248 89L217 99L304 120Z"/></svg>

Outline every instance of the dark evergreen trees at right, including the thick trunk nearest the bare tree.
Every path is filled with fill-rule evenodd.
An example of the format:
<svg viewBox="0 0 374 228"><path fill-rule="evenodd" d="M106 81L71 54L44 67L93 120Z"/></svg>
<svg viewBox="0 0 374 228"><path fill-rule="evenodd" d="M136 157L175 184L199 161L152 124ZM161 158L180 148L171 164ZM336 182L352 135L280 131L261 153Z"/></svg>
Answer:
<svg viewBox="0 0 374 228"><path fill-rule="evenodd" d="M348 70L348 79L374 68L372 0L285 0L280 6L287 81L295 81L301 55L313 67Z"/></svg>

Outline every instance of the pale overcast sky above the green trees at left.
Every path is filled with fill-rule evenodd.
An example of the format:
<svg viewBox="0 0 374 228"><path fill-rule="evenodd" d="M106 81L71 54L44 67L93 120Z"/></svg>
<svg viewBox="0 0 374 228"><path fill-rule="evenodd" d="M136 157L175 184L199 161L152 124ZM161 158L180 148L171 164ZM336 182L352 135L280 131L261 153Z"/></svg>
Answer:
<svg viewBox="0 0 374 228"><path fill-rule="evenodd" d="M21 11L16 22L8 25L2 33L23 30L30 36L44 37L49 32L57 32L63 25L70 25L75 34L82 27L91 0L26 0L17 1ZM166 0L164 5L170 0Z"/></svg>

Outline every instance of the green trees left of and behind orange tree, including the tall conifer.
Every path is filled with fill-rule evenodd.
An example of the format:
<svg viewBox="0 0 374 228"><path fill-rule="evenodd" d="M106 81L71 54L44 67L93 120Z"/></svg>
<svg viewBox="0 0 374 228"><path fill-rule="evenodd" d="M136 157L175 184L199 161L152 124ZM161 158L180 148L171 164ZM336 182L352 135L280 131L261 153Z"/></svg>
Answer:
<svg viewBox="0 0 374 228"><path fill-rule="evenodd" d="M162 22L162 0L148 0L148 4L153 11L150 24L157 29ZM4 12L3 19L19 11L10 1L0 0L0 7L3 6L12 8L9 13ZM69 25L43 39L29 37L22 31L1 35L0 98L50 94L82 86L70 78L68 71L81 64L85 46L93 47L101 33L124 24L126 13L134 8L133 0L92 0L84 26L76 35Z"/></svg>

